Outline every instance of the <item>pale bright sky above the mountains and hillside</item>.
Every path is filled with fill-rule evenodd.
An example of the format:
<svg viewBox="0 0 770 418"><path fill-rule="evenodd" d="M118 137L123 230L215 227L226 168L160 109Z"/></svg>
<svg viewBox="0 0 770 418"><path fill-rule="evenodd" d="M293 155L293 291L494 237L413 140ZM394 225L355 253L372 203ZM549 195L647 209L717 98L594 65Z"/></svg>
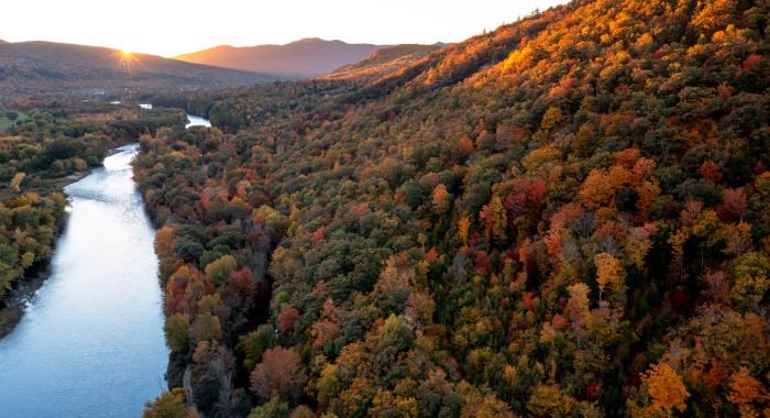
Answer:
<svg viewBox="0 0 770 418"><path fill-rule="evenodd" d="M0 40L175 56L217 45L459 42L564 0L10 0Z"/></svg>

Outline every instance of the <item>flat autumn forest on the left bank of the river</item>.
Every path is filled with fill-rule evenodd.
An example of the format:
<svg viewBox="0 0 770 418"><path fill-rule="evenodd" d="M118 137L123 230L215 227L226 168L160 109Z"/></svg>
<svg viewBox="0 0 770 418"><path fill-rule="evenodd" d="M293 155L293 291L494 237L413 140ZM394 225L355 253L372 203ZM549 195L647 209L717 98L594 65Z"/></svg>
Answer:
<svg viewBox="0 0 770 418"><path fill-rule="evenodd" d="M47 262L66 206L62 186L100 165L111 147L184 121L176 109L74 100L0 108L0 308L19 279Z"/></svg>

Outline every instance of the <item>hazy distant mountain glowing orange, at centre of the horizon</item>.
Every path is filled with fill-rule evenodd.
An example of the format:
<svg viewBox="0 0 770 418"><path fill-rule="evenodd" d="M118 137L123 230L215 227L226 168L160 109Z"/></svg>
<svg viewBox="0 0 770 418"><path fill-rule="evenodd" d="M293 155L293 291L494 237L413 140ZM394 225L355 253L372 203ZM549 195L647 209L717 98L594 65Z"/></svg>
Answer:
<svg viewBox="0 0 770 418"><path fill-rule="evenodd" d="M189 63L287 77L312 77L367 57L381 46L305 38L286 45L217 46L179 55Z"/></svg>

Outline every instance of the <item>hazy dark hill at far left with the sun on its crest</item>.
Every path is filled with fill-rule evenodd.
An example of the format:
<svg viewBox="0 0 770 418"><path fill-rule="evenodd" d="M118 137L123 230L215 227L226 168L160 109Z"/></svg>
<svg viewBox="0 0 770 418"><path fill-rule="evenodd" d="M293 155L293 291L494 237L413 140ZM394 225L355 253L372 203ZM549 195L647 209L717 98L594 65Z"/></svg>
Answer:
<svg viewBox="0 0 770 418"><path fill-rule="evenodd" d="M226 87L271 80L264 75L145 54L52 42L0 44L0 92L112 88Z"/></svg>

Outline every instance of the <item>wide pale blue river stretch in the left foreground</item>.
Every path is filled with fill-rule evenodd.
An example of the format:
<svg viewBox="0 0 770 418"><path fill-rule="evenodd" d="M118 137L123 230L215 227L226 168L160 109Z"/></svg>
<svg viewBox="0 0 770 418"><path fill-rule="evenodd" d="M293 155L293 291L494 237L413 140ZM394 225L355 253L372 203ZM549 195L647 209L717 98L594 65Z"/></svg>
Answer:
<svg viewBox="0 0 770 418"><path fill-rule="evenodd" d="M154 231L132 179L138 146L65 188L52 274L0 340L0 417L139 417L168 350Z"/></svg>

